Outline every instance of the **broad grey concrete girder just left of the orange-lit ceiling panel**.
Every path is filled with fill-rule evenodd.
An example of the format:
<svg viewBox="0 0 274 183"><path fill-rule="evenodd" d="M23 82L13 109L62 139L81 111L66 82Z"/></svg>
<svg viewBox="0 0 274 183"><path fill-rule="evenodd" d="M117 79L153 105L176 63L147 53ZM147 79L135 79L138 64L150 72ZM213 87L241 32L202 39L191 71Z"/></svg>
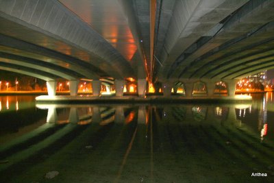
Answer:
<svg viewBox="0 0 274 183"><path fill-rule="evenodd" d="M44 11L41 13L41 10ZM29 38L27 32L24 34L24 31L27 30L35 32L34 35L37 37L45 37L51 42L60 43L62 40L62 43L65 43L64 47L57 48L60 53L89 62L116 78L132 76L131 66L121 54L59 1L15 1L14 3L1 1L0 15L1 20L9 20L18 26L27 27L27 29L21 29L22 31L18 35L13 32L16 30L10 29L10 33L13 32L18 38L21 37L34 45L39 45L41 42ZM1 29L0 32L9 34L5 29ZM42 46L52 49L50 44L43 43ZM67 52L67 49L64 48L72 47L71 45L74 50ZM80 49L84 49L85 54L83 52L79 54Z"/></svg>

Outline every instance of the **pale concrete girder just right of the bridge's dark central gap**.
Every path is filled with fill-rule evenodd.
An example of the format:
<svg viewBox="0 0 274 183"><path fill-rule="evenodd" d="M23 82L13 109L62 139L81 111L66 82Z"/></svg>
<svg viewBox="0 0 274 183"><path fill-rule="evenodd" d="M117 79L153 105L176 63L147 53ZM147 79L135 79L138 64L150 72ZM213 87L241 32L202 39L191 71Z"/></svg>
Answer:
<svg viewBox="0 0 274 183"><path fill-rule="evenodd" d="M159 57L164 65L158 74L160 80L161 78L164 80L168 75L171 65L182 51L190 47L203 34L210 34L210 29L246 2L233 1L233 5L227 6L229 1L184 1L183 3L176 1L173 19L169 23L169 30L164 38L166 51L163 49ZM219 11L224 7L226 11ZM216 12L218 12L217 16ZM211 34L213 35L214 32Z"/></svg>

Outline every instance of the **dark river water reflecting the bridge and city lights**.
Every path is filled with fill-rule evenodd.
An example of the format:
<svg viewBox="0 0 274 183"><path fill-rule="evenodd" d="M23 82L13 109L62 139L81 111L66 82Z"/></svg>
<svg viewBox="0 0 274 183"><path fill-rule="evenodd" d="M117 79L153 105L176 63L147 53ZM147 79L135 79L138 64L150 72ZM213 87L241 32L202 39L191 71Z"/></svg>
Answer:
<svg viewBox="0 0 274 183"><path fill-rule="evenodd" d="M0 96L0 182L274 180L273 93L238 104L46 105L34 98Z"/></svg>

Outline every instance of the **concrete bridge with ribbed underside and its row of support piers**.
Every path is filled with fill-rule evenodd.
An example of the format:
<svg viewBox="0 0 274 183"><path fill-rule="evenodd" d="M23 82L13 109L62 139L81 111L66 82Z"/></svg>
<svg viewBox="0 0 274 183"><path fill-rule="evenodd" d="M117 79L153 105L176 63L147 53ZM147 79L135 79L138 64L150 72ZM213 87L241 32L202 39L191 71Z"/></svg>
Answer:
<svg viewBox="0 0 274 183"><path fill-rule="evenodd" d="M274 69L274 1L0 0L0 69L47 81L113 84L116 96L134 81L144 97L195 84L234 96L241 77ZM108 80L108 82L105 82Z"/></svg>

